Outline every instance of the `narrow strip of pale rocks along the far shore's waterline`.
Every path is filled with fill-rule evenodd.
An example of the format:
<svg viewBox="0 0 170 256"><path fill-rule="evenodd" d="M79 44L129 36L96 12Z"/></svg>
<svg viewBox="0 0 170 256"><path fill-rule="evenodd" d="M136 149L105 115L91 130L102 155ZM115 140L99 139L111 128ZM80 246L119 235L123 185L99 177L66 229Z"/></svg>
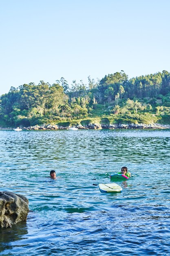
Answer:
<svg viewBox="0 0 170 256"><path fill-rule="evenodd" d="M69 130L70 128L76 128L76 130L101 130L101 129L168 129L170 125L165 124L97 124L90 123L88 125L82 126L81 124L76 126L58 126L51 124L44 124L41 126L29 126L22 128L23 130Z"/></svg>

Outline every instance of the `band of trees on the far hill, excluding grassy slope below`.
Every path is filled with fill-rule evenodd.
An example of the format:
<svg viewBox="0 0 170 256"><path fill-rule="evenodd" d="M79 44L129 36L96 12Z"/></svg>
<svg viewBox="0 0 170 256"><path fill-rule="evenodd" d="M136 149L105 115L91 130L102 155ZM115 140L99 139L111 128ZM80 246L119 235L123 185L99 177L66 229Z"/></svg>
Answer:
<svg viewBox="0 0 170 256"><path fill-rule="evenodd" d="M170 73L165 70L132 79L123 70L97 81L88 76L88 85L82 80L73 81L71 88L63 77L52 85L44 81L38 85L29 83L11 87L0 97L0 125L29 126L79 119L93 115L97 104L110 104L113 110L120 111L124 102L127 106L130 101L136 105L139 101L150 101L153 105L156 99L161 99L162 106L170 107L169 93Z"/></svg>

